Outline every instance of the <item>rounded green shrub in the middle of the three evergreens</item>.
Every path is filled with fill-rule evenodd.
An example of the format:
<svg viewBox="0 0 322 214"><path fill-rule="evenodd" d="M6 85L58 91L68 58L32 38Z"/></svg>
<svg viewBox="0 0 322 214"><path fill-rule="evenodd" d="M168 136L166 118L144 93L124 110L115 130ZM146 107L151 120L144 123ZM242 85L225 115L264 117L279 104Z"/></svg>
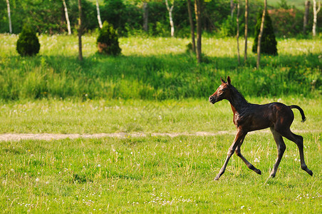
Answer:
<svg viewBox="0 0 322 214"><path fill-rule="evenodd" d="M113 26L104 22L100 34L98 35L98 52L107 55L119 55L121 52L118 44L118 34Z"/></svg>

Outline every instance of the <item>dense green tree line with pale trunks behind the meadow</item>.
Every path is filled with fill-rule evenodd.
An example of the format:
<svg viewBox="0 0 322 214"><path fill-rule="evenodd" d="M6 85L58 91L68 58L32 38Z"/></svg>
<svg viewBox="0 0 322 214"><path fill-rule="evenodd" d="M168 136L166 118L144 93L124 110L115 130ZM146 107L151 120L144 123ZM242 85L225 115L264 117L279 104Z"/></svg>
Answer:
<svg viewBox="0 0 322 214"><path fill-rule="evenodd" d="M117 29L120 36L188 37L191 35L191 24L197 22L194 5L200 3L199 21L202 31L218 36L235 36L238 2L236 0L82 0L83 31L93 32L99 29L104 21L108 21ZM243 29L246 24L244 4L245 1L238 4L239 29ZM308 6L297 9L281 0L277 6L267 6L276 36L305 36L311 34L312 26L315 31L321 32L321 26L313 24L315 19L316 23L322 21L321 13L318 14L318 5L321 5L321 1L314 0L311 4L310 1L303 1L304 4ZM190 14L189 6L192 10ZM316 10L313 9L314 6ZM263 1L249 1L247 17L249 36L254 36L256 17L262 8ZM76 0L0 0L0 9L0 33L19 34L25 23L31 24L39 34L77 33L78 1ZM243 34L244 31L240 30L239 36Z"/></svg>

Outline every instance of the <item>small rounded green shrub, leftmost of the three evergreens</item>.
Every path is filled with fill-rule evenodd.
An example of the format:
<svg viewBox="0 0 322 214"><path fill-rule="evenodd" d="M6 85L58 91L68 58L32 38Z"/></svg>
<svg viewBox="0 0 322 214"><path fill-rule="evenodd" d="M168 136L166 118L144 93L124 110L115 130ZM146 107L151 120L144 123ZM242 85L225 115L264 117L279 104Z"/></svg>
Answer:
<svg viewBox="0 0 322 214"><path fill-rule="evenodd" d="M38 54L40 44L36 31L29 25L25 25L19 34L16 50L21 56L33 56Z"/></svg>

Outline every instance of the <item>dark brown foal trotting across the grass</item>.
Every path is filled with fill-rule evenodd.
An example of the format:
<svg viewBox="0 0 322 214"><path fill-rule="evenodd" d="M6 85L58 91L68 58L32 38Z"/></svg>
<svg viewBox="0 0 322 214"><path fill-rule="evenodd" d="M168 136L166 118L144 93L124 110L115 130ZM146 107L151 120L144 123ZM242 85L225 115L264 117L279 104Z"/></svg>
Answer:
<svg viewBox="0 0 322 214"><path fill-rule="evenodd" d="M222 80L222 78L220 78ZM306 171L309 175L313 175L312 171L308 169L304 161L303 154L303 137L298 136L291 132L290 126L294 120L294 113L291 108L297 108L302 116L302 122L306 120L302 108L299 106L286 106L283 103L268 103L264 105L251 104L246 101L244 96L232 86L230 77L227 78L227 83L222 80L222 84L217 88L217 91L209 97L209 102L214 104L218 101L226 99L232 106L232 112L234 113L234 124L237 128L237 134L234 139L234 143L230 146L227 153L226 161L220 169L215 180L218 180L224 170L227 167L229 158L235 152L241 160L246 163L247 167L254 170L255 173L261 175L261 170L257 169L249 163L249 161L241 155L240 147L244 142L244 138L249 131L255 131L263 128L271 128L274 140L276 142L278 154L276 163L274 164L273 170L271 170L271 177L274 178L276 175L277 168L281 162L281 158L286 149L285 143L282 137L293 141L298 146L301 158L301 168Z"/></svg>

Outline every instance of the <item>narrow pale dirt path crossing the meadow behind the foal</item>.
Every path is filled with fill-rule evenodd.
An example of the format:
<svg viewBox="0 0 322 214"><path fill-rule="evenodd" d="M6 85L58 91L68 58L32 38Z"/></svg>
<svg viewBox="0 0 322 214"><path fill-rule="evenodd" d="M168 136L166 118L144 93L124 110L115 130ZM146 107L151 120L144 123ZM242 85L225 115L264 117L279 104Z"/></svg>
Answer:
<svg viewBox="0 0 322 214"><path fill-rule="evenodd" d="M318 133L320 130L313 131L294 131L294 133ZM264 131L255 131L251 133L270 133L269 130ZM251 134L250 133L250 134ZM211 132L196 132L196 133L93 133L93 134L61 134L61 133L4 133L0 134L0 141L21 141L21 140L43 140L43 141L51 141L51 140L59 140L65 138L126 138L126 137L147 137L147 136L169 136L171 138L177 136L218 136L224 134L232 134L234 135L234 131L219 131L217 133Z"/></svg>

